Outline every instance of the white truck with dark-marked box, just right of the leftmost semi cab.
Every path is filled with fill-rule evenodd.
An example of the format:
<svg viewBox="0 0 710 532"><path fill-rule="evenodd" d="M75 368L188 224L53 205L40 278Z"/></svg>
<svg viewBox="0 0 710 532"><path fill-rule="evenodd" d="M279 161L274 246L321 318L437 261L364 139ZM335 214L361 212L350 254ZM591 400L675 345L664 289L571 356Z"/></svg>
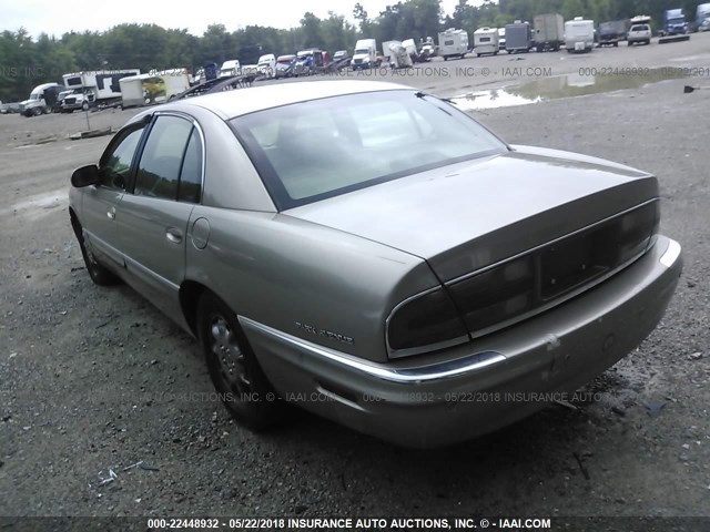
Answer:
<svg viewBox="0 0 710 532"><path fill-rule="evenodd" d="M79 109L88 111L89 108L100 104L119 103L121 101L119 81L140 73L140 69L123 69L64 74L62 75L64 86L74 89L74 92L62 100L62 111L72 112Z"/></svg>

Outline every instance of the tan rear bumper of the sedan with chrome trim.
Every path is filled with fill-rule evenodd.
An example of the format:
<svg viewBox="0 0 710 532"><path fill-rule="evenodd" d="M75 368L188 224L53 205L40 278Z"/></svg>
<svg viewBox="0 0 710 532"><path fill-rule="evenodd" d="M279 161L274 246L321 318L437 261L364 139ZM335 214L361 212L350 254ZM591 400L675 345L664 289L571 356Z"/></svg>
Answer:
<svg viewBox="0 0 710 532"><path fill-rule="evenodd" d="M426 357L375 364L240 317L286 400L405 447L470 439L521 419L616 364L656 327L682 270L659 236L602 285L506 330Z"/></svg>

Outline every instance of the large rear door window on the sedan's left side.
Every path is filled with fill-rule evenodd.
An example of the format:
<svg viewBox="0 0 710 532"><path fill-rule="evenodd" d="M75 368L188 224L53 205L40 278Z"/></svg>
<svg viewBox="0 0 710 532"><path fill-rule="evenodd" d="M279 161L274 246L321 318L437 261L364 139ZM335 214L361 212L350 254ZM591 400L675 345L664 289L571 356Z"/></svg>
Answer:
<svg viewBox="0 0 710 532"><path fill-rule="evenodd" d="M155 120L139 163L135 195L178 197L180 171L192 130L192 123L179 116Z"/></svg>

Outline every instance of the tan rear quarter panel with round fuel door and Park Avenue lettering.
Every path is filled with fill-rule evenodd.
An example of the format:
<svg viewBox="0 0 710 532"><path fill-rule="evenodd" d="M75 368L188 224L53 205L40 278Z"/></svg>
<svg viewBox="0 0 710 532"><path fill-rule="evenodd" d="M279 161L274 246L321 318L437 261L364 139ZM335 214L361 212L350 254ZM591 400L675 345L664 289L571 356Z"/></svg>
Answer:
<svg viewBox="0 0 710 532"><path fill-rule="evenodd" d="M186 277L235 313L369 360L387 360L389 309L438 286L417 257L267 213L195 206L186 256Z"/></svg>

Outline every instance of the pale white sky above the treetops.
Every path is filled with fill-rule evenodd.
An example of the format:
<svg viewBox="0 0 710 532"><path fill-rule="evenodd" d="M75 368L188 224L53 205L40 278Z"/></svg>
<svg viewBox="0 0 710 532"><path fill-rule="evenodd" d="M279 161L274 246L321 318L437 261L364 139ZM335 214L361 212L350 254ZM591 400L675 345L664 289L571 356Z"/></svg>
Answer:
<svg viewBox="0 0 710 532"><path fill-rule="evenodd" d="M186 29L202 35L212 23L222 23L227 31L245 25L294 28L306 11L326 18L335 11L353 21L353 7L358 0L200 0L199 2L168 2L150 0L119 0L116 2L62 2L60 0L0 0L0 31L24 28L30 35L44 32L61 37L68 31L105 31L113 25L154 23L163 28ZM397 0L359 0L371 18ZM458 0L443 0L445 14L452 14ZM478 4L479 1L471 1ZM190 8L187 8L190 6Z"/></svg>

